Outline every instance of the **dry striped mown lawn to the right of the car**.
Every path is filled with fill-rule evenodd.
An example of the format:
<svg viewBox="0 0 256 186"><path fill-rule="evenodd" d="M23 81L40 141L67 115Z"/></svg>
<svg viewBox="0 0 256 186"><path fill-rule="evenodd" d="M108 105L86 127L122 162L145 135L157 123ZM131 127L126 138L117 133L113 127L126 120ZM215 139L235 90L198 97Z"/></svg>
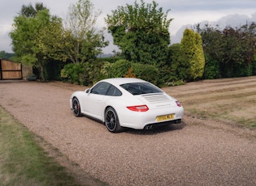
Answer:
<svg viewBox="0 0 256 186"><path fill-rule="evenodd" d="M256 77L189 82L163 90L180 99L188 116L256 129Z"/></svg>

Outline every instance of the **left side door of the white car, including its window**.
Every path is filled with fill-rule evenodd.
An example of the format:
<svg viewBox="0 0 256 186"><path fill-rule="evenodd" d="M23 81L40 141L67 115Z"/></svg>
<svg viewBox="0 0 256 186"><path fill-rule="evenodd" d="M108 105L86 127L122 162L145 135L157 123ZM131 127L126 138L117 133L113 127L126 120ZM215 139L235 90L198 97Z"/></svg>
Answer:
<svg viewBox="0 0 256 186"><path fill-rule="evenodd" d="M84 100L85 103L85 114L89 116L93 116L98 120L102 120L101 111L103 105L103 99L106 96L106 92L111 87L111 84L108 82L99 82L96 84L87 95Z"/></svg>

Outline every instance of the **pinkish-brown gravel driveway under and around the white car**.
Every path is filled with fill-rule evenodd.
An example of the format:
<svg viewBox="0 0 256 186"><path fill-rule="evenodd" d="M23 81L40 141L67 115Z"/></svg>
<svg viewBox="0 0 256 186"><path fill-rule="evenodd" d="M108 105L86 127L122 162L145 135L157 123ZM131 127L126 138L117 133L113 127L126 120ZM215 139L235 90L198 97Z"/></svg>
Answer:
<svg viewBox="0 0 256 186"><path fill-rule="evenodd" d="M110 185L255 185L256 139L246 129L184 116L184 123L163 129L109 133L72 115L69 97L84 89L0 82L0 104L85 174Z"/></svg>

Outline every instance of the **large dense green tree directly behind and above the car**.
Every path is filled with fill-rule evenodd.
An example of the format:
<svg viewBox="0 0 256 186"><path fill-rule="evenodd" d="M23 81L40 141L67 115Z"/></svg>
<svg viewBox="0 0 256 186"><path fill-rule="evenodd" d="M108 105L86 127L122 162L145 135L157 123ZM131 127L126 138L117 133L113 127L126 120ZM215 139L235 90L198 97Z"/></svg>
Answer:
<svg viewBox="0 0 256 186"><path fill-rule="evenodd" d="M145 4L141 0L141 4L119 6L105 21L126 60L156 65L167 59L172 20L167 14L156 2Z"/></svg>

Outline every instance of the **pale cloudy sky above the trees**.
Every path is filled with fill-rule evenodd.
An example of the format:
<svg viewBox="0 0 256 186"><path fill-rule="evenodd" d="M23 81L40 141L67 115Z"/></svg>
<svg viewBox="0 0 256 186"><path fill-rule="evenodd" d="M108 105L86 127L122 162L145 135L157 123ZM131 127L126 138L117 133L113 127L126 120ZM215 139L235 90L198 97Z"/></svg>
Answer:
<svg viewBox="0 0 256 186"><path fill-rule="evenodd" d="M36 2L42 2L50 9L51 15L58 15L65 19L68 7L78 0L0 0L0 2L0 51L12 53L11 38L8 34L11 32L13 19L20 12L22 5L27 6L29 3L34 5ZM97 27L106 27L104 21L106 15L111 15L111 11L117 9L118 6L134 4L135 0L91 0L91 2L93 2L95 11L102 11L98 17ZM137 0L137 2L141 1ZM144 0L144 2L151 3L152 0ZM163 11L170 10L168 18L173 20L169 32L171 40L177 42L182 36L180 29L185 25L206 21L216 24L221 22L223 25L230 26L230 22L237 22L240 19L256 22L256 0L155 0L155 2L158 3L158 8L163 7ZM227 19L231 15L233 20ZM111 44L103 49L103 52L111 53L116 47L112 44L111 36L106 35L106 40L109 40Z"/></svg>

